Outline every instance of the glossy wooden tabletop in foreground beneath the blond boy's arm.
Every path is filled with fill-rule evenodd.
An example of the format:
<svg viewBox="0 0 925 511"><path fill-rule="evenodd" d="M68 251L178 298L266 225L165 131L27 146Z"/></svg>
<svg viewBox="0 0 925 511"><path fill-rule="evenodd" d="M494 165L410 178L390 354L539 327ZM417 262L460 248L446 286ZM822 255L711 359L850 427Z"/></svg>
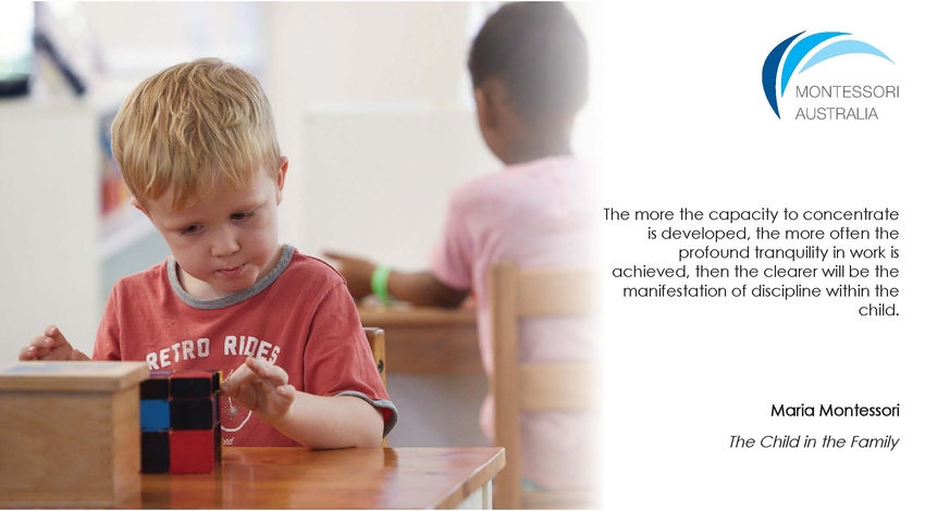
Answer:
<svg viewBox="0 0 925 511"><path fill-rule="evenodd" d="M125 508L491 508L504 449L226 447L211 474L145 474ZM473 502L474 501L474 502Z"/></svg>

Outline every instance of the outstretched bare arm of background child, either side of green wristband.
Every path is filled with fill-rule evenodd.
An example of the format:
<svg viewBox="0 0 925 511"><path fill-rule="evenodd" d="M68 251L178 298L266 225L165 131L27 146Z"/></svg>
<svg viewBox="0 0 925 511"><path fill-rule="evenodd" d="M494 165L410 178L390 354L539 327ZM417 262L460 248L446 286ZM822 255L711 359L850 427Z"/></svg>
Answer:
<svg viewBox="0 0 925 511"><path fill-rule="evenodd" d="M324 257L332 259L341 275L347 281L347 289L354 298L360 299L372 292L370 281L375 265L365 259L351 258L332 252ZM388 294L396 300L415 306L456 308L466 300L469 289L456 289L437 281L431 272L405 273L392 271L387 282Z"/></svg>

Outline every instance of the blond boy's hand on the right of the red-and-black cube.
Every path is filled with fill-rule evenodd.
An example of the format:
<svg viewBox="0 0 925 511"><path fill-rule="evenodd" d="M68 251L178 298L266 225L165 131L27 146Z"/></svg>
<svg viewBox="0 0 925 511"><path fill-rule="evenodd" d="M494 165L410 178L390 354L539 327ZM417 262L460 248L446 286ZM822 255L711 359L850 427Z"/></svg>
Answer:
<svg viewBox="0 0 925 511"><path fill-rule="evenodd" d="M283 420L296 397L282 367L248 357L224 382L222 396L252 410L261 421L274 425Z"/></svg>

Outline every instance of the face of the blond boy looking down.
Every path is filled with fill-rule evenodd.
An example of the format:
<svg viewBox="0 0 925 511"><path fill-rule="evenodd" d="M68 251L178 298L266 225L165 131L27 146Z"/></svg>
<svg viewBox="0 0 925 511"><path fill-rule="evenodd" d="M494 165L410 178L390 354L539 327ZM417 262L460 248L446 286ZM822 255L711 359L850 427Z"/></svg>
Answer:
<svg viewBox="0 0 925 511"><path fill-rule="evenodd" d="M170 247L186 292L218 298L270 272L280 254L276 207L287 167L283 157L276 179L259 172L250 188L222 188L177 210L171 210L172 192L135 202Z"/></svg>

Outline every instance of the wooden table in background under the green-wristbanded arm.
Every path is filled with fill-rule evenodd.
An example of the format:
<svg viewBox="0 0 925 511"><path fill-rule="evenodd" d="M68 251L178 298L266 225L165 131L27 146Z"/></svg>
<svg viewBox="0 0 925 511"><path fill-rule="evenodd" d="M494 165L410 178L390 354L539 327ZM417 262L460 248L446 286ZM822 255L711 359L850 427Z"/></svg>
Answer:
<svg viewBox="0 0 925 511"><path fill-rule="evenodd" d="M482 373L473 309L360 307L363 326L385 331L387 374Z"/></svg>

